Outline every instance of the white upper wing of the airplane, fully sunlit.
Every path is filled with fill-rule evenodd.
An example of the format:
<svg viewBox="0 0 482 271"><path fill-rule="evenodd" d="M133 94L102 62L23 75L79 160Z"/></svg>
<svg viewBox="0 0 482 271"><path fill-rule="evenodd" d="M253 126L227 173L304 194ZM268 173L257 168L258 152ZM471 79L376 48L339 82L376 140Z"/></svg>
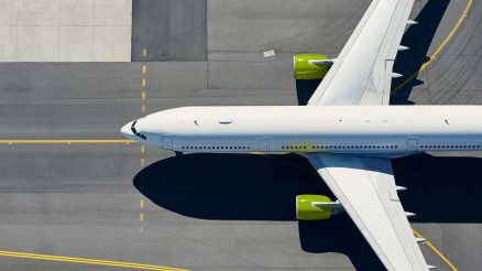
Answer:
<svg viewBox="0 0 482 271"><path fill-rule="evenodd" d="M373 0L308 100L319 105L388 105L393 64L414 0Z"/></svg>

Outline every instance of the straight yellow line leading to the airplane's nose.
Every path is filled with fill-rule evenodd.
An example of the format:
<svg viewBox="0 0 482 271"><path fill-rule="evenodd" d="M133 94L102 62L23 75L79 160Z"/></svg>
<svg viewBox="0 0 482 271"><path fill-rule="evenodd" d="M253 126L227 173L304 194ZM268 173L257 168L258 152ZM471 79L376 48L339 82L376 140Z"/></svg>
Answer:
<svg viewBox="0 0 482 271"><path fill-rule="evenodd" d="M0 144L129 144L128 139L3 139Z"/></svg>

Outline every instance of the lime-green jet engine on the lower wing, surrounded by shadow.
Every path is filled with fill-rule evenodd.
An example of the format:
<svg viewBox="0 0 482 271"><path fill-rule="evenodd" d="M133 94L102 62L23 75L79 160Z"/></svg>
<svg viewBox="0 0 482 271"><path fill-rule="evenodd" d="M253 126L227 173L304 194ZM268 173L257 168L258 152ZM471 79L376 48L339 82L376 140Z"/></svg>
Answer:
<svg viewBox="0 0 482 271"><path fill-rule="evenodd" d="M296 218L298 220L324 220L343 210L341 204L322 195L296 196Z"/></svg>

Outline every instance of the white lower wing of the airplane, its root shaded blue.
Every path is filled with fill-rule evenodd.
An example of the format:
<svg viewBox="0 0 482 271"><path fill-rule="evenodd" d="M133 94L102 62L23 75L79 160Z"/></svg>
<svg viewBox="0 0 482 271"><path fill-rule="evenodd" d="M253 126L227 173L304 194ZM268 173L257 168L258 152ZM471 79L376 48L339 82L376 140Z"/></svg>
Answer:
<svg viewBox="0 0 482 271"><path fill-rule="evenodd" d="M390 159L305 155L387 270L429 270L399 202Z"/></svg>

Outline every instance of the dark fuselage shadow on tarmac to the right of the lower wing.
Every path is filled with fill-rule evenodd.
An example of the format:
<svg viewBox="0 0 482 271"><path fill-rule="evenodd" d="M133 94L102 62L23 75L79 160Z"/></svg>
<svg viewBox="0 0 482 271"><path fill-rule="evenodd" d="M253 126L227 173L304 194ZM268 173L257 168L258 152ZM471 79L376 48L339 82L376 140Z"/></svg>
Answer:
<svg viewBox="0 0 482 271"><path fill-rule="evenodd" d="M393 161L404 209L413 223L482 223L482 159L418 154Z"/></svg>

